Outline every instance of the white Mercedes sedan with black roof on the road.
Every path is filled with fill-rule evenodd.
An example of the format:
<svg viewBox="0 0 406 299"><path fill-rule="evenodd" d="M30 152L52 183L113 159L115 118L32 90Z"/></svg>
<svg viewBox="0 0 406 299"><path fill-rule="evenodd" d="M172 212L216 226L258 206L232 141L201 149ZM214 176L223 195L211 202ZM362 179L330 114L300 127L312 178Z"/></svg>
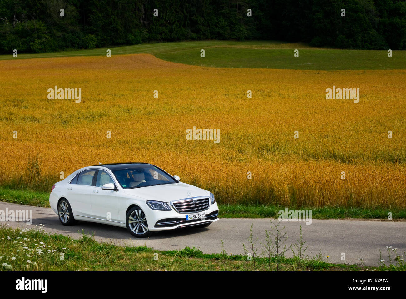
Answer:
<svg viewBox="0 0 406 299"><path fill-rule="evenodd" d="M214 195L181 183L148 163L99 164L76 170L52 186L52 210L63 225L77 220L127 227L136 237L218 220Z"/></svg>

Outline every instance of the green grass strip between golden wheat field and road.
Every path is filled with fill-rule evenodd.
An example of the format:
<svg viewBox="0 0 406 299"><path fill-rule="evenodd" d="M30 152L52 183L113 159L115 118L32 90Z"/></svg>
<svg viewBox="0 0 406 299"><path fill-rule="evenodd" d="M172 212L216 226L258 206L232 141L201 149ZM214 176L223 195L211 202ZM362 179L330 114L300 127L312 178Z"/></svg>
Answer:
<svg viewBox="0 0 406 299"><path fill-rule="evenodd" d="M50 207L48 192L16 190L4 186L0 187L0 201L35 207ZM279 210L285 210L285 206L276 205L223 205L218 203L218 206L221 218L272 218L278 216ZM406 210L396 208L385 210L380 207L374 209L361 207L289 207L289 209L312 210L313 219L386 219L389 211L392 212L393 219L406 219Z"/></svg>

